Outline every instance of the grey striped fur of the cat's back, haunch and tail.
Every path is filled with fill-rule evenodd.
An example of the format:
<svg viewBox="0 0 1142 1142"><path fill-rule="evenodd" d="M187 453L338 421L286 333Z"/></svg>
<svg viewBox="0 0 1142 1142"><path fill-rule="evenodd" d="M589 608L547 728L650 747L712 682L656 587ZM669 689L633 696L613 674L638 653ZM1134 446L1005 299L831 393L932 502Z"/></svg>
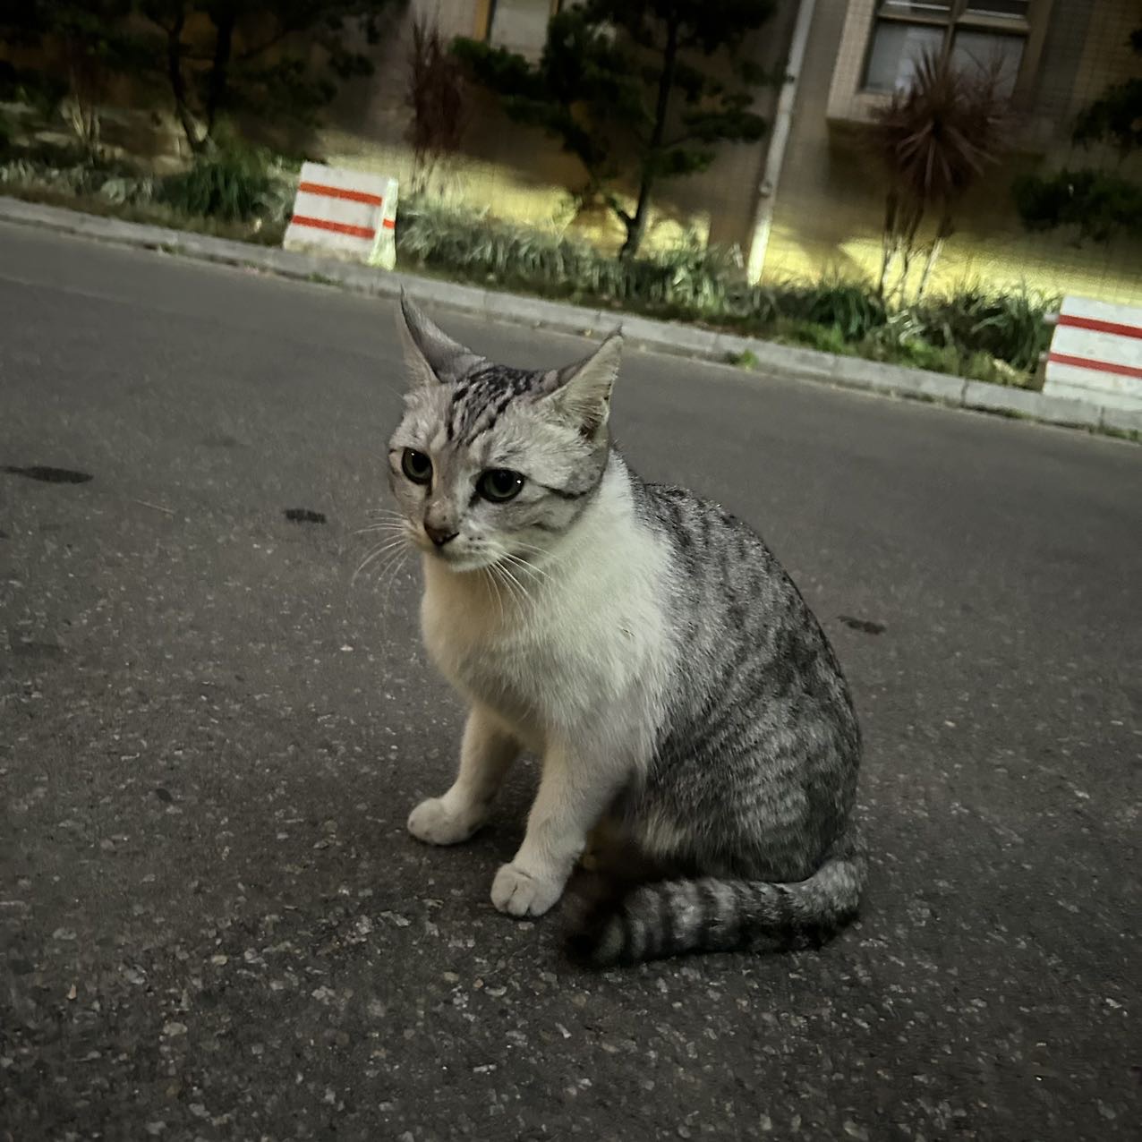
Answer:
<svg viewBox="0 0 1142 1142"><path fill-rule="evenodd" d="M683 570L669 606L685 668L645 778L613 811L643 852L695 878L581 917L572 948L605 965L820 944L856 915L867 870L841 666L754 531L684 489L630 478Z"/></svg>

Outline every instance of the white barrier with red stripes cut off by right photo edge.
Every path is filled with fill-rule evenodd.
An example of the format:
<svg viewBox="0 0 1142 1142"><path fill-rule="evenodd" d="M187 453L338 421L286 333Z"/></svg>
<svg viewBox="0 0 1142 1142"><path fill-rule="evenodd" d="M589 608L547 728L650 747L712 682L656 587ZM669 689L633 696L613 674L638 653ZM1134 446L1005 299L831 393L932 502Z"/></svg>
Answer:
<svg viewBox="0 0 1142 1142"><path fill-rule="evenodd" d="M1043 392L1142 411L1142 308L1063 298Z"/></svg>

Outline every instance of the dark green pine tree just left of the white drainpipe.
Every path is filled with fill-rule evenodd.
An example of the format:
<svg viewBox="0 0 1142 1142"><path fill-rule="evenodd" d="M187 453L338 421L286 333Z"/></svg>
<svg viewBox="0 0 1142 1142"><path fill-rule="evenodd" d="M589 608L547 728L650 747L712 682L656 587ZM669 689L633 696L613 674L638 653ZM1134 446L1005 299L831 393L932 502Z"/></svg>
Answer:
<svg viewBox="0 0 1142 1142"><path fill-rule="evenodd" d="M469 39L453 51L513 121L542 128L582 163L633 257L661 179L705 170L719 143L764 134L749 107L767 77L738 49L772 11L772 0L585 0L552 18L537 64ZM729 85L714 74L718 56Z"/></svg>

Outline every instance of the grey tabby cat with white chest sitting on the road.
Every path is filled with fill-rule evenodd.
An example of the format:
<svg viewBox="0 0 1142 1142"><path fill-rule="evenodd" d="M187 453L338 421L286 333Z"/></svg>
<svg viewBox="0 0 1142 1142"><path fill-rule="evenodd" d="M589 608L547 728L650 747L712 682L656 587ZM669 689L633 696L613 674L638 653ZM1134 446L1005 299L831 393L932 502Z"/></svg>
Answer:
<svg viewBox="0 0 1142 1142"><path fill-rule="evenodd" d="M500 911L546 912L602 821L638 874L580 907L589 963L826 939L866 876L860 731L793 581L741 521L616 451L618 333L526 370L403 297L400 324L412 386L389 482L423 553L426 646L468 706L457 778L409 831L467 839L531 750L542 773L492 882Z"/></svg>

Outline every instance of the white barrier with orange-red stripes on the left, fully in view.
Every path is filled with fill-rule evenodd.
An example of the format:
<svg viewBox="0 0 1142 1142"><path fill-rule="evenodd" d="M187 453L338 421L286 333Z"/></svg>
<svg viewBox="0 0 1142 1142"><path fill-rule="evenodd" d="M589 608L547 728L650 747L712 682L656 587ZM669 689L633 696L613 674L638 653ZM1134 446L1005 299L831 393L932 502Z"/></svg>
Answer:
<svg viewBox="0 0 1142 1142"><path fill-rule="evenodd" d="M396 179L307 162L282 247L396 265Z"/></svg>

